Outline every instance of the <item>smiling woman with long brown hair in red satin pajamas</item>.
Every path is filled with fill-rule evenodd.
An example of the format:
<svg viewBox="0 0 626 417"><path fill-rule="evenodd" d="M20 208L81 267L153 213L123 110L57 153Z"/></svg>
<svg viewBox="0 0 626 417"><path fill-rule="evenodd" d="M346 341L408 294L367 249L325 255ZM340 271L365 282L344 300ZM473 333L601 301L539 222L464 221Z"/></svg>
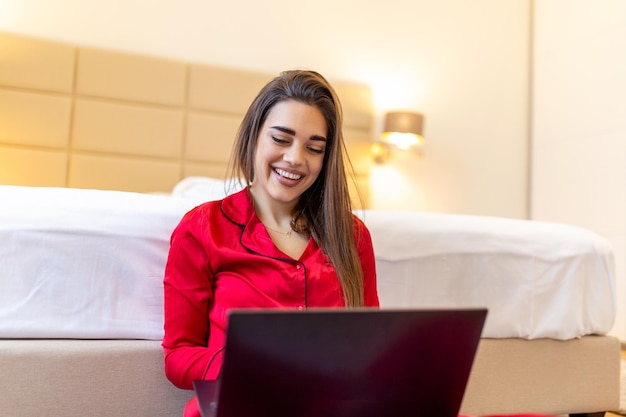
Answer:
<svg viewBox="0 0 626 417"><path fill-rule="evenodd" d="M229 309L378 306L346 161L339 100L320 74L286 71L260 91L233 149L247 187L191 210L172 234L163 350L174 385L217 378ZM184 415L199 416L195 399Z"/></svg>

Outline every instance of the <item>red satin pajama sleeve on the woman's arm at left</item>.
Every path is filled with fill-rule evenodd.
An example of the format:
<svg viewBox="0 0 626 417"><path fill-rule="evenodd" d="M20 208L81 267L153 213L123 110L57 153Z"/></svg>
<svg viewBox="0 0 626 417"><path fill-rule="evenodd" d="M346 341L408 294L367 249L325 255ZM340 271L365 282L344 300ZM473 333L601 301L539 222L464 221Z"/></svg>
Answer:
<svg viewBox="0 0 626 417"><path fill-rule="evenodd" d="M206 213L198 208L183 217L172 233L163 280L165 374L183 389L203 379L215 355L207 348L214 274L206 223Z"/></svg>

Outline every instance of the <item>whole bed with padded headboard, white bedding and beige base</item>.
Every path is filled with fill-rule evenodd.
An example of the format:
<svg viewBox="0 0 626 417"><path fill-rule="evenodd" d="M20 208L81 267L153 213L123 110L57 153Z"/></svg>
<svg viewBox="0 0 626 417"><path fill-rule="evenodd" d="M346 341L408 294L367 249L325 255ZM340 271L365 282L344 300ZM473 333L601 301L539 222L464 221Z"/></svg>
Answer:
<svg viewBox="0 0 626 417"><path fill-rule="evenodd" d="M160 347L169 235L225 192L234 130L271 75L8 33L0 51L0 415L180 415L191 393ZM616 410L606 240L368 210L371 97L336 85L382 307L489 308L461 411Z"/></svg>

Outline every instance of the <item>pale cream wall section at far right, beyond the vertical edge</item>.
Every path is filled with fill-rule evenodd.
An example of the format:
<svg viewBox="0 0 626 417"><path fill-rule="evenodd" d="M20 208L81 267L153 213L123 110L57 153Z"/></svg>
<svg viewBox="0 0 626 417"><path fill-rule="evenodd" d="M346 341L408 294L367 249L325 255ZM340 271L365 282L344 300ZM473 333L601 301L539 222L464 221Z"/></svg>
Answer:
<svg viewBox="0 0 626 417"><path fill-rule="evenodd" d="M626 2L535 2L532 218L615 249L626 339Z"/></svg>

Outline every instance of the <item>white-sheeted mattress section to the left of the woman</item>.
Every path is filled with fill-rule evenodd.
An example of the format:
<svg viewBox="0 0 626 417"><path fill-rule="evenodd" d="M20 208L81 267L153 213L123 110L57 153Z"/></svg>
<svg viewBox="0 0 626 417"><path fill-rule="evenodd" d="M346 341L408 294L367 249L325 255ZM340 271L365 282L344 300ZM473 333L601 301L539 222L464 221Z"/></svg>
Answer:
<svg viewBox="0 0 626 417"><path fill-rule="evenodd" d="M0 338L163 334L163 271L185 200L0 187Z"/></svg>

